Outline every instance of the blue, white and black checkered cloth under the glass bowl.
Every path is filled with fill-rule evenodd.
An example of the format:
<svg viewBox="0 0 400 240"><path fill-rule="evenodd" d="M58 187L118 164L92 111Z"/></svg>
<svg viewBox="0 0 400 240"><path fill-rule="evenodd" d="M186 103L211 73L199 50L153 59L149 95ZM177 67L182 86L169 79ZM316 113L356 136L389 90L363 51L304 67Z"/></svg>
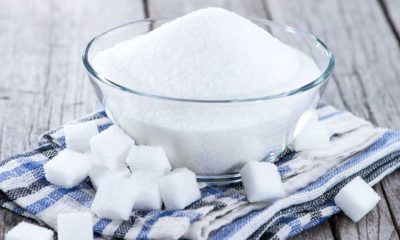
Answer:
<svg viewBox="0 0 400 240"><path fill-rule="evenodd" d="M335 194L361 176L370 185L400 166L400 133L373 128L368 122L330 106L318 110L335 134L332 150L288 153L277 162L288 196L272 205L246 201L240 183L205 185L202 197L184 210L134 211L128 221L95 219L97 236L127 239L197 238L286 239L336 214ZM99 131L112 125L103 111L79 121L95 121ZM56 227L60 212L89 211L95 191L89 179L72 189L52 185L43 164L65 148L63 129L41 136L33 151L0 162L3 208Z"/></svg>

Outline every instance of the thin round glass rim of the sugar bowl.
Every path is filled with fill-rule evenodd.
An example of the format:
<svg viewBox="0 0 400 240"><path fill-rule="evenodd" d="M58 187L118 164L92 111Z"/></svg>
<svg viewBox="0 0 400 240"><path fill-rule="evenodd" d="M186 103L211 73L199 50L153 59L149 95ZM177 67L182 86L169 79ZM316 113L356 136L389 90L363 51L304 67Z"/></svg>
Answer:
<svg viewBox="0 0 400 240"><path fill-rule="evenodd" d="M289 90L285 92L280 92L276 94L271 94L271 95L266 95L266 96L260 96L260 97L247 97L247 98L234 98L234 99L190 99L190 98L179 98L179 97L171 97L171 96L163 96L163 95L158 95L158 94L152 94L148 92L143 92L143 91L138 91L129 87L125 87L121 84L118 84L104 76L102 76L99 72L97 72L94 67L92 67L90 60L89 60L89 52L91 50L92 45L99 39L105 37L108 34L111 34L113 31L128 27L130 25L138 24L138 23L144 23L144 22L154 22L154 21L160 21L160 20L168 20L168 19L175 19L179 16L170 16L170 17L159 17L159 18L144 18L140 20L134 20L130 21L121 25L118 25L116 27L113 27L103 33L100 33L93 37L89 43L86 45L84 48L83 54L82 54L82 60L83 60L83 65L85 66L86 71L90 76L93 76L96 80L102 82L103 84L109 85L111 87L117 88L119 90L122 90L124 92L132 93L135 95L143 96L143 97L149 97L149 98L154 98L154 99L160 99L160 100L169 100L169 101L178 101L178 102L195 102L195 103L242 103L242 102L255 102L255 101L265 101L265 100L270 100L270 99L277 99L277 98L283 98L283 97L288 97L291 95L295 95L297 93L302 93L305 92L311 88L314 88L316 86L322 85L324 82L326 82L329 79L329 76L333 72L333 69L335 68L335 57L330 50L330 48L319 38L317 38L315 35L307 32L300 30L298 28L294 28L291 26L288 26L286 24L278 23L272 20L264 19L264 18L256 18L256 17L248 17L250 21L257 21L262 24L267 24L267 25L274 25L277 27L283 28L285 31L293 33L293 34L302 34L311 40L315 41L315 43L319 46L322 46L323 50L326 53L326 56L328 58L328 64L325 68L325 70L321 73L319 77L316 79L312 80L311 82Z"/></svg>

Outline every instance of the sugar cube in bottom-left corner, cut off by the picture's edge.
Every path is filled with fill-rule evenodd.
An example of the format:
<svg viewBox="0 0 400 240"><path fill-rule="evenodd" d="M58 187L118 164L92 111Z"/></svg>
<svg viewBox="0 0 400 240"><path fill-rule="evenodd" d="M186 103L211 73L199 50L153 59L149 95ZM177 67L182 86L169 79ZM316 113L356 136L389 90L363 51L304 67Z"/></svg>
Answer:
<svg viewBox="0 0 400 240"><path fill-rule="evenodd" d="M53 231L27 222L20 222L12 228L5 240L53 240Z"/></svg>

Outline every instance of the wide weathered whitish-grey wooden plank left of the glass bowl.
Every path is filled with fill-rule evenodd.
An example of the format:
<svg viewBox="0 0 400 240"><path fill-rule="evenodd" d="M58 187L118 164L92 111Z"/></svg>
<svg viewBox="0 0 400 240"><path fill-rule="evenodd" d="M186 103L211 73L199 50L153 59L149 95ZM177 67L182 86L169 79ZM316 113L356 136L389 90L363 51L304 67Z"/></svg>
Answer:
<svg viewBox="0 0 400 240"><path fill-rule="evenodd" d="M31 149L39 134L94 111L81 54L97 33L143 18L135 0L0 1L0 159ZM22 218L0 211L0 239Z"/></svg>

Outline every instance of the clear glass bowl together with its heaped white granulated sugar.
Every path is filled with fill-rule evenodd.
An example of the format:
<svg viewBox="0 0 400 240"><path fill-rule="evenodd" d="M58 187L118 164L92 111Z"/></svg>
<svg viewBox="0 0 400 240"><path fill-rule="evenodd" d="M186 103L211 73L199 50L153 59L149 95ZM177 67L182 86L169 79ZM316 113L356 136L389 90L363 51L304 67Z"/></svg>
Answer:
<svg viewBox="0 0 400 240"><path fill-rule="evenodd" d="M220 8L115 27L88 43L83 62L115 124L204 180L275 161L335 65L310 33Z"/></svg>

